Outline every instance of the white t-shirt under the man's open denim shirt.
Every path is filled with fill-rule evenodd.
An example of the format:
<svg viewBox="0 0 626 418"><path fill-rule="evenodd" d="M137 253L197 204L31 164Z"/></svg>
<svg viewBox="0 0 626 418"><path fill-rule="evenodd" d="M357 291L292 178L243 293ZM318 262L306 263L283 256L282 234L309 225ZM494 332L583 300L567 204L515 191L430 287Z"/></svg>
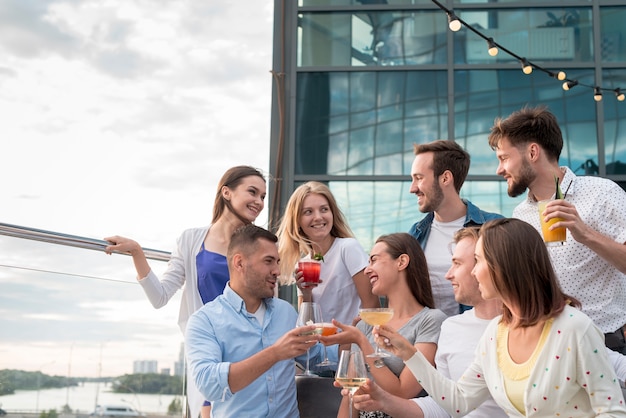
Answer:
<svg viewBox="0 0 626 418"><path fill-rule="evenodd" d="M449 246L454 241L455 232L463 228L464 222L465 216L452 222L439 222L433 219L424 248L435 308L448 316L459 313L459 304L454 300L452 285L445 277L451 265L452 254Z"/></svg>

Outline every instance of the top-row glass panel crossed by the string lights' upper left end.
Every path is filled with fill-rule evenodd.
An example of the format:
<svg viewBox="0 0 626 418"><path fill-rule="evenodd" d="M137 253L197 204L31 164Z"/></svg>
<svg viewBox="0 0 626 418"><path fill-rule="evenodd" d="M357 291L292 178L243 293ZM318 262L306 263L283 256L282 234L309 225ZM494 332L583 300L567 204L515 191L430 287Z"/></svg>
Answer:
<svg viewBox="0 0 626 418"><path fill-rule="evenodd" d="M455 12L481 34L530 61L593 60L590 8ZM455 42L461 45L454 54L457 63L517 61L504 50L500 50L495 57L490 56L487 41L466 28L455 34Z"/></svg>

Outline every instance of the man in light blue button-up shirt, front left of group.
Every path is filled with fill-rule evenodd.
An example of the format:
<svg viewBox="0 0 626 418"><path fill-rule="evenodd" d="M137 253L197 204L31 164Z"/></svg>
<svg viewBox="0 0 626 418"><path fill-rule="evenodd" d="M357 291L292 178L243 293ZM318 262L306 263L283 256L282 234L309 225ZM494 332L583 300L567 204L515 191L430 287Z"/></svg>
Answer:
<svg viewBox="0 0 626 418"><path fill-rule="evenodd" d="M273 297L280 272L276 242L274 234L254 225L235 231L224 293L187 324L192 378L211 401L213 417L298 416L294 357L319 336L305 335L314 325L295 328L296 310Z"/></svg>

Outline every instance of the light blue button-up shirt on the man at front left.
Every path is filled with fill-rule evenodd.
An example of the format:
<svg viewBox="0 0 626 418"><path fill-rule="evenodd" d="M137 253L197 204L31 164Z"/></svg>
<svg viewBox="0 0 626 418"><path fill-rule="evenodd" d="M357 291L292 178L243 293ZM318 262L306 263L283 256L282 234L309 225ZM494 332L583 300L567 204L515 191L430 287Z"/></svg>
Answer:
<svg viewBox="0 0 626 418"><path fill-rule="evenodd" d="M237 393L228 386L231 363L271 346L295 327L298 313L288 302L265 299L261 326L243 299L227 284L224 294L194 313L187 324L185 349L192 378L212 404L213 417L298 417L295 364L279 361ZM321 360L320 344L311 348L311 364ZM306 361L306 354L298 357Z"/></svg>

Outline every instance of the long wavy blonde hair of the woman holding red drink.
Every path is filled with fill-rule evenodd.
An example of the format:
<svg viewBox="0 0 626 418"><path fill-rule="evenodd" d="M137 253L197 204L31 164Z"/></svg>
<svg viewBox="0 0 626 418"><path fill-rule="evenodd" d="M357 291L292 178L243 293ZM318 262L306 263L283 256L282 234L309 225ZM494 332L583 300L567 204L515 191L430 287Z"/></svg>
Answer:
<svg viewBox="0 0 626 418"><path fill-rule="evenodd" d="M280 255L283 284L291 281L297 261L314 252L313 242L302 232L299 224L304 199L312 194L324 196L328 200L328 206L333 214L333 227L330 230L330 235L337 238L354 237L328 186L317 181L309 181L300 185L289 197L285 214L278 226L278 254Z"/></svg>

